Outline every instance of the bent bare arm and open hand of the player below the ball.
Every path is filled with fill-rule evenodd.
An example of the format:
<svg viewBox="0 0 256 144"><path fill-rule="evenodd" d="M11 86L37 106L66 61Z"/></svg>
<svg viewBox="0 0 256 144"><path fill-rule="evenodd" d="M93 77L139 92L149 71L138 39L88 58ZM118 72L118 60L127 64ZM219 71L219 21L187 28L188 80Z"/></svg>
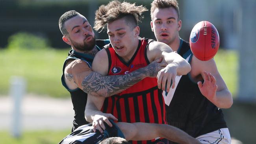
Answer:
<svg viewBox="0 0 256 144"><path fill-rule="evenodd" d="M214 59L200 61L193 57L192 66L191 74L201 75L204 79L203 83L198 81L202 95L219 108L230 108L233 104L232 94L219 74Z"/></svg>

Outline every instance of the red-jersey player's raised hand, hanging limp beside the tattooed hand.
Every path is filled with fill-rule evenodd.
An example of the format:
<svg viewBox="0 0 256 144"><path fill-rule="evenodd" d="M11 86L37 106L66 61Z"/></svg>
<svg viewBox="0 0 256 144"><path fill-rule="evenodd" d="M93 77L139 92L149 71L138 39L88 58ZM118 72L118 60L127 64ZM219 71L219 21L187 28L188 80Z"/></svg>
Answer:
<svg viewBox="0 0 256 144"><path fill-rule="evenodd" d="M175 86L175 77L177 76L177 65L171 63L168 64L165 68L161 69L158 72L158 89L162 89L169 92L170 87L174 89ZM171 84L172 83L172 84Z"/></svg>

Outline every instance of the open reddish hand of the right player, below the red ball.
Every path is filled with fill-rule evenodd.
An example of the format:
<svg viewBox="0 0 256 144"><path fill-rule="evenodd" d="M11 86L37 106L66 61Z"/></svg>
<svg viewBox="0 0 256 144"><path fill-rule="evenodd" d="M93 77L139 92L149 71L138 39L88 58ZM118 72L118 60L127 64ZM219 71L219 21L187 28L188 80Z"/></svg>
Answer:
<svg viewBox="0 0 256 144"><path fill-rule="evenodd" d="M211 75L210 72L208 73L206 71L202 72L202 77L204 79L204 83L201 81L197 82L199 90L206 98L214 101L218 89L218 86L216 85L216 79L213 75Z"/></svg>

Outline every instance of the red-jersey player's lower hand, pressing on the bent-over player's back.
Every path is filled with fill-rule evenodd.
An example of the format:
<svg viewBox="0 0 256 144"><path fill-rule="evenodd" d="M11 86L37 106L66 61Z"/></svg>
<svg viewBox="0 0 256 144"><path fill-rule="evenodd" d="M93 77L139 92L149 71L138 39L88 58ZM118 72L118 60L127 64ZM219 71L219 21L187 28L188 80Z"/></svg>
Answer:
<svg viewBox="0 0 256 144"><path fill-rule="evenodd" d="M109 118L117 120L115 116L108 113L104 113L102 115L95 115L93 118L93 131L96 132L96 129L98 129L100 133L103 133L103 131L106 129L104 122L106 122L106 124L112 127L111 122L108 120Z"/></svg>

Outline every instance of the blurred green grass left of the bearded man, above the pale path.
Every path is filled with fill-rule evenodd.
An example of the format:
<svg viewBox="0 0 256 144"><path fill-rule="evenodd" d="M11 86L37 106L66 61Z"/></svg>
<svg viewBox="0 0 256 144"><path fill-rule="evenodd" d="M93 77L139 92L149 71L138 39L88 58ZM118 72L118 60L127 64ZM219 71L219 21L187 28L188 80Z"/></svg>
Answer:
<svg viewBox="0 0 256 144"><path fill-rule="evenodd" d="M0 94L8 94L11 76L27 81L27 92L67 97L61 84L62 66L68 50L0 50Z"/></svg>

